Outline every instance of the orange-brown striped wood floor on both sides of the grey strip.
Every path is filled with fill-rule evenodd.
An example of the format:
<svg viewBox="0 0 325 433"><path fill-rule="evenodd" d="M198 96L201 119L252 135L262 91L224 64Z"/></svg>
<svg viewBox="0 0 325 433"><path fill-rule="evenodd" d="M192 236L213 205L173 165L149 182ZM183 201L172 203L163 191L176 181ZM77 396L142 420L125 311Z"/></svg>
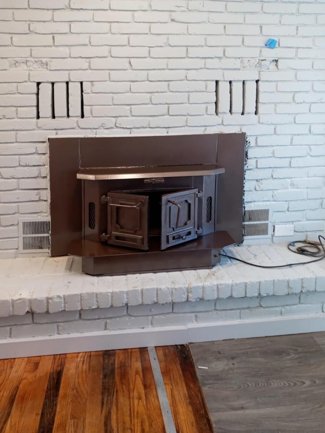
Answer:
<svg viewBox="0 0 325 433"><path fill-rule="evenodd" d="M156 348L177 432L213 431L187 346ZM166 431L148 350L0 360L0 432Z"/></svg>

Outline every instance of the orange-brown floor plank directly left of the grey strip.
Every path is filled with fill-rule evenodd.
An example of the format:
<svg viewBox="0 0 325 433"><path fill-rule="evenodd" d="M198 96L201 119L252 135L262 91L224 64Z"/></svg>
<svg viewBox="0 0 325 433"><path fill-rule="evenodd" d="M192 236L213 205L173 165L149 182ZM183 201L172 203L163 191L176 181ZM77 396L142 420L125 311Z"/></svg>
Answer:
<svg viewBox="0 0 325 433"><path fill-rule="evenodd" d="M147 348L140 349L142 383L146 399L146 413L149 432L165 433L163 414L158 400L158 394L151 369L150 358Z"/></svg>

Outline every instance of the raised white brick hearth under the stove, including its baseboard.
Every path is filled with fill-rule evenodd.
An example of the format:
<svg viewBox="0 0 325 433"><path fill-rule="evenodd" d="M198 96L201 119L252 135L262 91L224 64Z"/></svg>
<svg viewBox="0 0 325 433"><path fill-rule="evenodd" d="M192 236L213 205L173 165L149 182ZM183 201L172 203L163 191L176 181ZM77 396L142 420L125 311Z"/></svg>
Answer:
<svg viewBox="0 0 325 433"><path fill-rule="evenodd" d="M271 265L308 258L284 244L226 252ZM0 357L293 334L325 329L325 260L259 269L92 277L73 257L0 261Z"/></svg>

